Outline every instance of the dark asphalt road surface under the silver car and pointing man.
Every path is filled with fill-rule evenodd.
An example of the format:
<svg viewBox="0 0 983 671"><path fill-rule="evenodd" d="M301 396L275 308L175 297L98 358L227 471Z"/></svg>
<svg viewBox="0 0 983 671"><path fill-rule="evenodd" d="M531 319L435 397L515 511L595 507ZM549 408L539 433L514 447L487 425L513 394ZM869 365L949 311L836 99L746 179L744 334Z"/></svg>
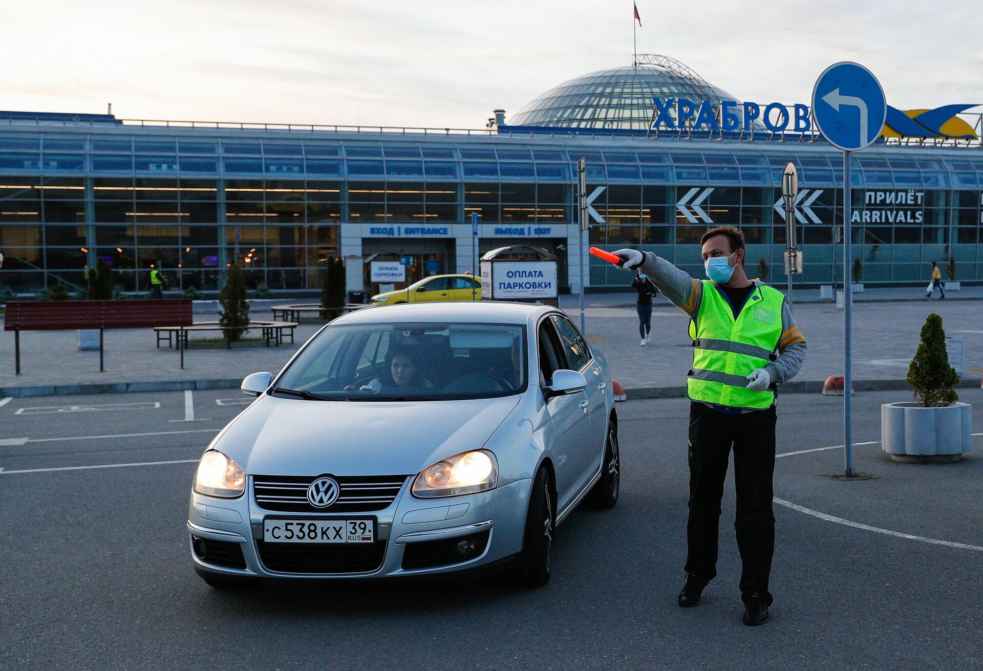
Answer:
<svg viewBox="0 0 983 671"><path fill-rule="evenodd" d="M983 404L983 391L959 393ZM854 397L855 463L873 476L854 481L834 477L842 399L781 398L775 604L756 628L740 622L730 482L720 575L699 606L675 604L682 399L617 405L621 500L559 528L547 587L219 591L192 570L189 489L207 442L249 398L15 398L0 407L0 668L980 669L983 436L955 464L895 464L877 441L880 404L899 396Z"/></svg>

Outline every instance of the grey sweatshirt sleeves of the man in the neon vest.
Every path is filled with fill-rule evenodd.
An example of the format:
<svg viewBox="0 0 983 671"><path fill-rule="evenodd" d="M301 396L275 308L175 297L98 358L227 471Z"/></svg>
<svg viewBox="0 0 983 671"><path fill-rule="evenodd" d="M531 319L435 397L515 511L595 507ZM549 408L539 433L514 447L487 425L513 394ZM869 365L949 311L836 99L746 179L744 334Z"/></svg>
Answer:
<svg viewBox="0 0 983 671"><path fill-rule="evenodd" d="M676 308L682 309L690 317L696 317L703 298L703 283L690 277L665 258L652 252L645 252L642 272ZM781 304L781 337L779 338L779 358L765 366L772 382L787 382L802 367L805 360L805 337L795 325L788 301Z"/></svg>

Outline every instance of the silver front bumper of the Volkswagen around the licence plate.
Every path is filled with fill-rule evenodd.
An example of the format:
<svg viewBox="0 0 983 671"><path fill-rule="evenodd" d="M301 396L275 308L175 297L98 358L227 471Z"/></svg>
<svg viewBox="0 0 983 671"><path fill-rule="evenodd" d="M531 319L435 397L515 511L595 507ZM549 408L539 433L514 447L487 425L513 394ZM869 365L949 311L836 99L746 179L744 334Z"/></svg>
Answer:
<svg viewBox="0 0 983 671"><path fill-rule="evenodd" d="M412 478L385 510L372 513L305 514L261 509L252 485L243 496L220 499L193 492L188 512L192 561L199 572L242 578L391 578L451 573L477 569L501 562L522 550L526 511L532 480L520 479L490 491L446 498L420 499L409 492ZM273 560L284 552L305 552L314 543L263 543L263 519L322 521L374 519L376 542L347 543L330 548L331 562L323 570L317 560L300 559L301 570L271 570ZM447 547L468 539L477 544L473 555L460 559L447 554ZM275 545L275 550L272 546ZM286 547L286 546L292 547ZM295 550L307 545L303 550ZM238 546L238 548L236 547ZM205 556L201 550L215 548ZM321 547L325 547L321 545ZM311 548L318 554L317 548ZM220 552L217 550L221 550ZM242 558L238 552L241 550ZM346 554L348 553L348 554ZM228 558L233 557L235 561ZM310 556L310 555L304 555ZM346 564L345 557L357 561ZM378 559L376 565L376 557ZM265 561L264 561L265 559ZM312 564L311 561L314 563ZM295 568L296 562L292 564ZM372 569L369 570L369 565ZM282 566L277 566L282 568ZM316 572L314 572L316 571Z"/></svg>

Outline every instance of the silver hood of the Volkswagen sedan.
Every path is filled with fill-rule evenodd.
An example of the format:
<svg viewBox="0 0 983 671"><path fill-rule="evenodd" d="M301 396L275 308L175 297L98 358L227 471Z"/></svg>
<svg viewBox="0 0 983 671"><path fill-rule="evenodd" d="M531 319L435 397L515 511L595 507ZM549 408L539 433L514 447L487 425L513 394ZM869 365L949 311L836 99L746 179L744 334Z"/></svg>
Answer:
<svg viewBox="0 0 983 671"><path fill-rule="evenodd" d="M212 447L250 475L412 475L481 448L519 398L327 402L264 395Z"/></svg>

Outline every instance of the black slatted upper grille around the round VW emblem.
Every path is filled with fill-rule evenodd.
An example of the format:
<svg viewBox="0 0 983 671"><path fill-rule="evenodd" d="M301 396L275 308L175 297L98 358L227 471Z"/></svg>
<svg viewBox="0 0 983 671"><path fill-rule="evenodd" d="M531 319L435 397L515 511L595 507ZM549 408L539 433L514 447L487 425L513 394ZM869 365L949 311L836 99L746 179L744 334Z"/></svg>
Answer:
<svg viewBox="0 0 983 671"><path fill-rule="evenodd" d="M307 490L318 476L253 475L253 495L263 510L284 513L369 513L384 510L396 498L409 475L343 475L334 477L340 493L326 508L316 508Z"/></svg>

